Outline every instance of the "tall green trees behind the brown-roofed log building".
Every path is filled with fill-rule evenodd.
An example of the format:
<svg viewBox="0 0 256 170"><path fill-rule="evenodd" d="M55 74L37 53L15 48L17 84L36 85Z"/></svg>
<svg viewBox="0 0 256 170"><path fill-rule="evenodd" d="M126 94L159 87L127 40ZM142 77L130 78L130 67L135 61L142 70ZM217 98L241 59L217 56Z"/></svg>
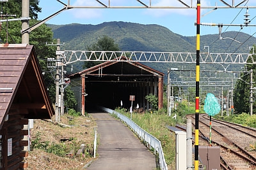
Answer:
<svg viewBox="0 0 256 170"><path fill-rule="evenodd" d="M41 8L38 6L39 1L31 1L29 3L29 25L35 25L38 20L37 13L41 11ZM16 17L8 17L8 18L20 18L22 15L22 1L20 0L12 0L6 3L1 3L3 6L3 14L15 14ZM0 29L0 39L1 43L13 43L18 44L21 43L21 22L10 21L3 22L1 24ZM8 27L7 27L8 26ZM7 34L8 32L8 34ZM7 41L8 40L8 41ZM49 95L52 101L55 100L55 87L54 87L54 70L47 68L47 58L55 57L56 47L54 46L46 46L46 42L54 42L53 32L51 28L47 27L47 25L42 24L40 27L37 27L35 30L31 31L29 34L29 44L35 46L36 56L40 62L40 67L44 74L45 84L47 85L47 89L49 89Z"/></svg>

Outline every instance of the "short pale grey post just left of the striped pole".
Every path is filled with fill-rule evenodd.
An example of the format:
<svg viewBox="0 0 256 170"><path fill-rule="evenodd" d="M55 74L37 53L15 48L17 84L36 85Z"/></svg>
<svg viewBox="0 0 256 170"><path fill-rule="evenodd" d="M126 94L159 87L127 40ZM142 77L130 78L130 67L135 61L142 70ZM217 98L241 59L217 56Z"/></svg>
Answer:
<svg viewBox="0 0 256 170"><path fill-rule="evenodd" d="M192 161L192 123L191 119L187 120L187 169L193 169Z"/></svg>

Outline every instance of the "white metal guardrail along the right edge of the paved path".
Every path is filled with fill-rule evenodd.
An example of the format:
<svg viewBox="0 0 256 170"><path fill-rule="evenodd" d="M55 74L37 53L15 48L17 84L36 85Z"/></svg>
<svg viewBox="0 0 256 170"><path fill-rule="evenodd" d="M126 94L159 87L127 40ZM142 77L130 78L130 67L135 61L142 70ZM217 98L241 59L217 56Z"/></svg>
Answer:
<svg viewBox="0 0 256 170"><path fill-rule="evenodd" d="M168 170L168 167L164 159L164 153L163 153L161 141L159 141L157 138L155 138L154 136L152 136L151 134L143 130L140 126L135 124L130 118L125 117L121 113L118 113L117 111L111 110L109 108L104 108L104 107L99 107L99 108L103 111L116 115L116 117L124 121L125 124L129 125L132 131L134 131L134 133L137 134L140 139L143 139L143 141L147 142L147 145L149 145L150 150L151 148L154 148L154 154L156 154L156 152L158 153L159 166L161 170Z"/></svg>

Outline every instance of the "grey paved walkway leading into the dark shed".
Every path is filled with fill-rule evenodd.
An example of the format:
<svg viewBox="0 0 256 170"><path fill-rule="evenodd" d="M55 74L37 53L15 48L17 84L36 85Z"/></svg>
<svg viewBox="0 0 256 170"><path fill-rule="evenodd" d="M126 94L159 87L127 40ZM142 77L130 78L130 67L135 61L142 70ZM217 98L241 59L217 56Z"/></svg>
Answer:
<svg viewBox="0 0 256 170"><path fill-rule="evenodd" d="M108 113L90 113L97 122L99 159L88 170L156 169L156 157L125 125Z"/></svg>

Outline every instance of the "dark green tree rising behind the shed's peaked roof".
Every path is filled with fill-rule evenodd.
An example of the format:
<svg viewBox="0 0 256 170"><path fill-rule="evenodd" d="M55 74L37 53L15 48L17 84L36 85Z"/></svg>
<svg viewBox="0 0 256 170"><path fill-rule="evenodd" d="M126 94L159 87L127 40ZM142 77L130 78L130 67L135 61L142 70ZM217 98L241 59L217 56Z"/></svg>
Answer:
<svg viewBox="0 0 256 170"><path fill-rule="evenodd" d="M119 46L115 43L114 39L106 35L100 37L97 43L87 46L86 48L88 51L120 51ZM100 53L96 53L96 55L99 57ZM95 57L93 56L92 59L95 59ZM90 68L100 63L102 62L84 62L83 68Z"/></svg>

